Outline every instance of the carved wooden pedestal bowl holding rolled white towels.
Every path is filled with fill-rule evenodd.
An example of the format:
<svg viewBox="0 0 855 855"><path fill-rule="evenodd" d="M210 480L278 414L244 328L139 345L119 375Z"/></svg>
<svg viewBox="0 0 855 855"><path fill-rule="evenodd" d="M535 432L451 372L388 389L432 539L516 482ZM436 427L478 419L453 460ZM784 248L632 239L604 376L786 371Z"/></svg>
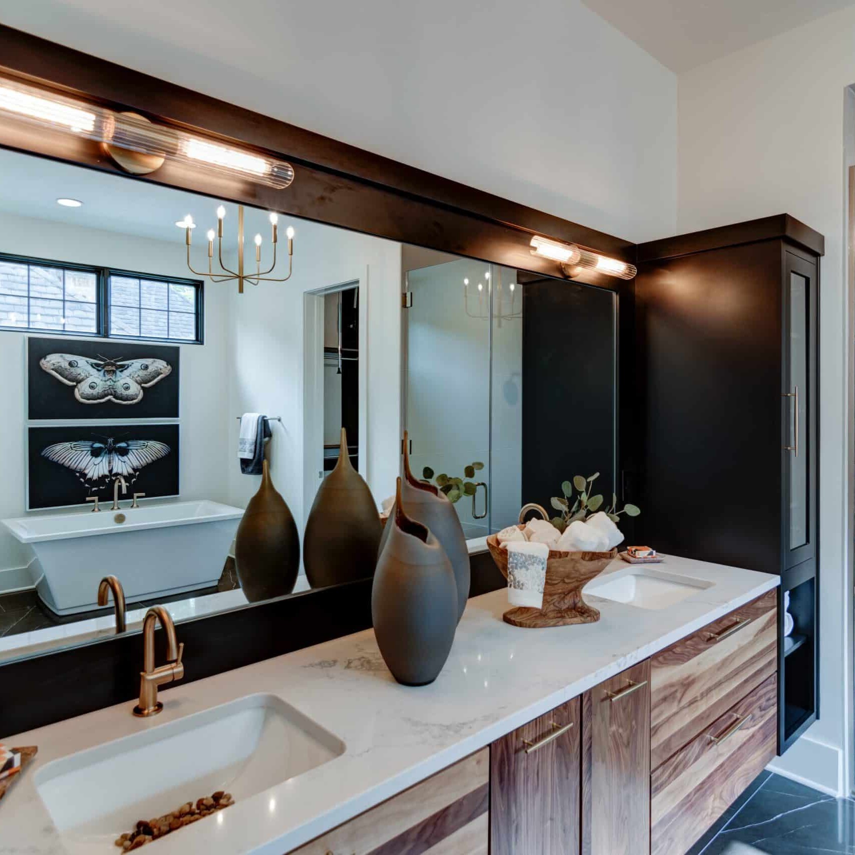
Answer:
<svg viewBox="0 0 855 855"><path fill-rule="evenodd" d="M499 545L495 534L487 537L486 545L492 560L507 579L508 551ZM564 627L571 623L597 622L599 610L582 599L582 588L600 575L616 556L616 549L609 552L564 552L551 549L546 559L543 608L518 605L504 613L504 622L515 627Z"/></svg>

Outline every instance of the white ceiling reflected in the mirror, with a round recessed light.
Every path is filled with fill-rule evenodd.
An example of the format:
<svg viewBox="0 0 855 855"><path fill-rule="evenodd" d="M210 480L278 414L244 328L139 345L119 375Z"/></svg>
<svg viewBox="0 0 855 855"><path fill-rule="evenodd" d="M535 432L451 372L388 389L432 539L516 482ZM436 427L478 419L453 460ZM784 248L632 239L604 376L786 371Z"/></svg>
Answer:
<svg viewBox="0 0 855 855"><path fill-rule="evenodd" d="M81 208L63 208L57 198L79 199ZM175 226L186 214L192 214L198 227L193 245L205 244L205 233L216 225L219 200L129 180L119 175L97 172L22 155L0 149L0 212L50 220L69 225L131 234L141 238L167 240L183 246L184 231ZM237 229L237 206L226 204L226 233ZM280 233L294 217L280 219ZM247 208L247 241L261 233L265 243L270 236L268 212Z"/></svg>

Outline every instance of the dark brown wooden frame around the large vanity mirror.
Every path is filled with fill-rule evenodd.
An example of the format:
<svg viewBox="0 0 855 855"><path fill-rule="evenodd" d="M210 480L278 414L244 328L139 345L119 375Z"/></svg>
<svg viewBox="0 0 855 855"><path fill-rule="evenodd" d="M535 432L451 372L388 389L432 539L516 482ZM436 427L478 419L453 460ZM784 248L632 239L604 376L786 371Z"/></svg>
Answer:
<svg viewBox="0 0 855 855"><path fill-rule="evenodd" d="M0 147L6 149L552 277L563 278L555 262L531 255L533 234L636 261L636 246L627 240L3 25L0 57L0 72L262 150L291 162L296 177L284 191L239 179L212 180L174 163L132 177L95 142L9 125L0 126ZM618 295L616 441L626 498L633 492L627 480L633 461L620 437L631 435L632 402L622 404L619 390L634 387L634 281L593 272L577 281ZM472 557L472 570L470 596L504 585L488 553ZM371 579L365 579L181 622L179 633L187 649L182 682L369 628L370 596ZM158 648L164 644L162 635L156 633ZM131 701L138 690L142 655L142 636L134 633L3 663L0 679L14 691L0 693L0 736ZM158 657L162 655L158 649Z"/></svg>

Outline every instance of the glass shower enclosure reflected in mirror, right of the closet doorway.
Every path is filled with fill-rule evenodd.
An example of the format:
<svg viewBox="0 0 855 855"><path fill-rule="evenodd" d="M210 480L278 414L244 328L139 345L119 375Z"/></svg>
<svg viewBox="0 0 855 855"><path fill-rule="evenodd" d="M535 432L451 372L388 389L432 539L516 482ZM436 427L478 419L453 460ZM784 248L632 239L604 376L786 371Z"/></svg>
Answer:
<svg viewBox="0 0 855 855"><path fill-rule="evenodd" d="M403 261L410 465L455 501L468 540L486 537L522 504L516 270L414 247Z"/></svg>

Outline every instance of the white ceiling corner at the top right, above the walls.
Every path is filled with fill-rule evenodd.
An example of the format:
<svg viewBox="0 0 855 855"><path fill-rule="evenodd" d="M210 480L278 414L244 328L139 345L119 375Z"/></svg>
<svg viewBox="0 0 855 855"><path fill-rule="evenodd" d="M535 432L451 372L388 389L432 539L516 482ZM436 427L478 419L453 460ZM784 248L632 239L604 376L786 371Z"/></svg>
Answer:
<svg viewBox="0 0 855 855"><path fill-rule="evenodd" d="M677 73L855 5L855 0L582 0Z"/></svg>

